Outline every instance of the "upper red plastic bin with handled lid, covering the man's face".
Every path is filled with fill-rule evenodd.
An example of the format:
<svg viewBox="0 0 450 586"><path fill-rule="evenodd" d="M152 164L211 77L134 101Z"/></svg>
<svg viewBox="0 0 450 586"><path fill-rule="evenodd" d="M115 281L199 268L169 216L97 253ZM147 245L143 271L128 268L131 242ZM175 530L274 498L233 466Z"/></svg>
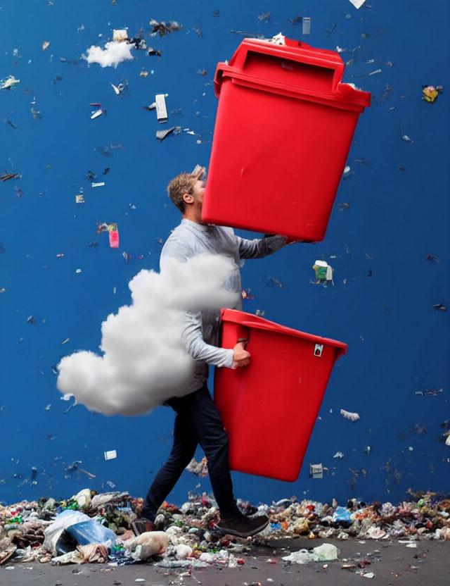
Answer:
<svg viewBox="0 0 450 586"><path fill-rule="evenodd" d="M341 83L338 53L285 43L244 39L217 65L202 218L316 242L371 94Z"/></svg>

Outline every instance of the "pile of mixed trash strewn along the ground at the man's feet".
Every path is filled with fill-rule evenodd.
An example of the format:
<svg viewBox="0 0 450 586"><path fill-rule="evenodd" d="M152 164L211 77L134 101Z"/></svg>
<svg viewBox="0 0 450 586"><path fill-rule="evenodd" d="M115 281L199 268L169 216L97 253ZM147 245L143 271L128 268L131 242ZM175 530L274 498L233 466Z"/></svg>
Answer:
<svg viewBox="0 0 450 586"><path fill-rule="evenodd" d="M155 531L135 537L131 522L143 500L128 492L97 494L84 489L68 500L39 499L0 506L0 565L10 562L87 563L124 565L150 559L162 567L240 566L252 544L277 539L311 540L449 540L450 499L433 492L411 493L413 500L398 506L390 502L351 499L347 506L297 497L252 506L238 501L246 515L265 513L270 523L255 537L221 535L217 503L206 493L188 494L181 507L165 502L155 519ZM330 544L324 544L324 546ZM323 561L321 547L302 549L285 559L306 563ZM334 547L335 548L335 547ZM317 551L316 551L317 550ZM327 550L328 551L328 550ZM328 552L335 556L337 548ZM297 559L298 558L298 559Z"/></svg>

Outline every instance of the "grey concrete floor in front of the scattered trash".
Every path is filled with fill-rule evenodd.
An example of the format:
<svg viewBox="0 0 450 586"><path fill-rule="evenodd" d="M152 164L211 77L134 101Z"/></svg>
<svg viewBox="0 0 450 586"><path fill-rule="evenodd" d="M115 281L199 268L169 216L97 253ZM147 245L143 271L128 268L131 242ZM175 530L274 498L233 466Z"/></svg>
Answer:
<svg viewBox="0 0 450 586"><path fill-rule="evenodd" d="M448 586L450 584L450 542L418 542L417 549L397 542L368 540L325 540L339 547L340 559L307 566L288 564L281 557L302 547L315 547L322 540L282 540L254 546L250 554L242 557L245 564L238 568L198 568L191 575L186 568L155 568L152 563L135 563L130 566L84 564L82 566L51 566L41 563L6 563L0 567L1 586L243 586L245 582L260 582L262 586L290 585L398 585ZM374 554L375 550L380 552ZM372 556L371 556L372 554ZM355 573L342 570L342 559L369 559L365 572L373 572L369 581ZM271 559L276 563L269 563ZM416 566L416 568L411 567ZM8 569L13 568L13 569ZM359 570L361 571L361 570ZM145 582L136 582L144 578ZM361 581L362 580L362 581Z"/></svg>

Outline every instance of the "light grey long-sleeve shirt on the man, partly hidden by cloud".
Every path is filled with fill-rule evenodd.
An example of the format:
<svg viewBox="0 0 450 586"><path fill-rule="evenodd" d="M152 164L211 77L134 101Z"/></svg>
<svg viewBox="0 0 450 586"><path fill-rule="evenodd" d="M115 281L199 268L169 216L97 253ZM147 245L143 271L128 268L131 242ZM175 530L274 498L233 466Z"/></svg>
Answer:
<svg viewBox="0 0 450 586"><path fill-rule="evenodd" d="M236 236L233 228L198 224L183 218L162 247L160 268L167 258L185 262L197 254L220 254L231 258L233 272L225 283L226 289L239 294L233 309L242 309L240 263L246 258L262 258L281 249L286 243L284 236L271 236L247 240ZM218 348L219 311L185 313L183 342L188 354L195 360L193 376L184 389L176 394L187 394L200 389L208 378L208 364L226 366L233 364L233 350Z"/></svg>

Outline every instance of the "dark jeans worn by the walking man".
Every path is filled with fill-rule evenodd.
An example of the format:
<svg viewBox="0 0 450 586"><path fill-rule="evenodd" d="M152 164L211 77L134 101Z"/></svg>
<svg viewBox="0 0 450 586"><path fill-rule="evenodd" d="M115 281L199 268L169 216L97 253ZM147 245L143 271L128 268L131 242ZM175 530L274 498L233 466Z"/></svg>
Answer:
<svg viewBox="0 0 450 586"><path fill-rule="evenodd" d="M205 385L184 397L166 401L176 413L174 445L169 459L148 490L141 516L154 520L156 511L175 486L181 473L193 459L200 444L208 463L208 472L221 518L238 511L228 463L228 439L224 424Z"/></svg>

